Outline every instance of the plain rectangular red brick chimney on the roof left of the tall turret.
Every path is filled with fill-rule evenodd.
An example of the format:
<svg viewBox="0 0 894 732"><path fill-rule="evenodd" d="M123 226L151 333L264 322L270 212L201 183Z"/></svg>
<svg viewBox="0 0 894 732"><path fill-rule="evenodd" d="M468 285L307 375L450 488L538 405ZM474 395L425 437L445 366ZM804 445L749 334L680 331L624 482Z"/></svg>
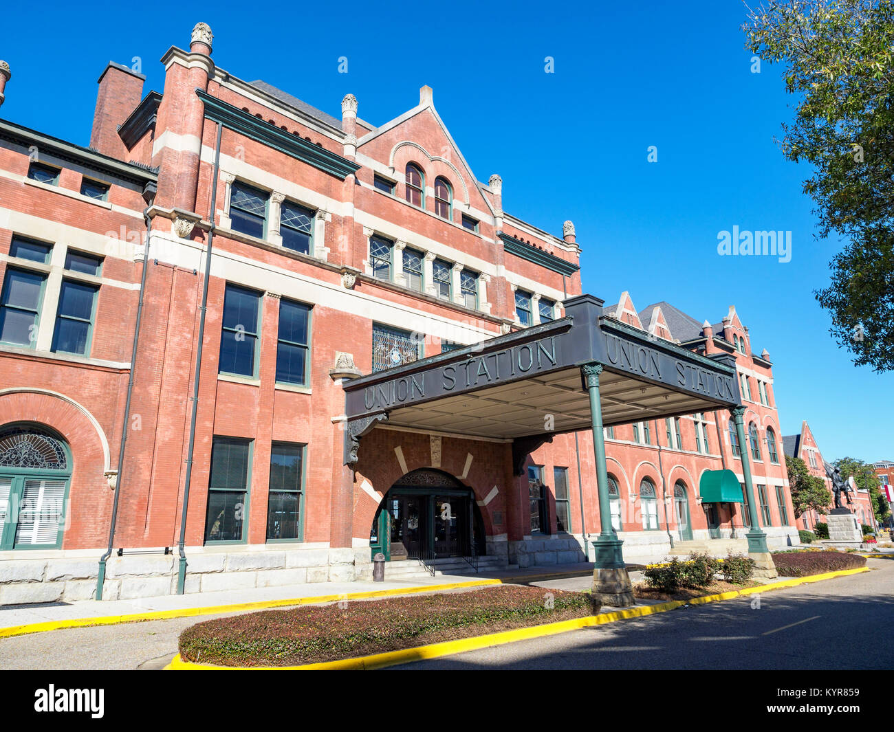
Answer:
<svg viewBox="0 0 894 732"><path fill-rule="evenodd" d="M121 63L110 61L99 76L97 109L93 114L90 147L119 160L130 160L127 147L118 136L118 125L130 116L143 98L146 77Z"/></svg>

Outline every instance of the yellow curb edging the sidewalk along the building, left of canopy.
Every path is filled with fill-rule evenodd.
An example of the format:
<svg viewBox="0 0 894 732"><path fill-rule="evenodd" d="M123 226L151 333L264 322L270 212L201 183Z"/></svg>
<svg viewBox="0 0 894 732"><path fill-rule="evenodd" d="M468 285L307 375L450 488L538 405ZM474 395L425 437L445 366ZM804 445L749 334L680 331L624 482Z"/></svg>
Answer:
<svg viewBox="0 0 894 732"><path fill-rule="evenodd" d="M325 594L316 597L296 597L287 600L263 600L259 602L238 602L231 605L212 605L204 608L182 608L180 610L155 610L153 612L137 612L130 615L107 615L100 618L72 618L70 620L48 620L44 623L29 623L22 626L0 627L0 638L29 633L46 633L49 630L61 630L67 627L112 626L119 623L133 623L140 620L165 620L168 618L192 618L199 615L216 615L223 612L239 612L240 610L266 610L269 608L292 607L294 605L316 605L321 602L338 602L340 600L365 600L375 597L388 597L399 594L415 594L456 590L462 587L484 587L502 585L500 579L476 579L468 582L451 582L445 585L419 585L415 587L398 587L392 590L369 590L363 593Z"/></svg>

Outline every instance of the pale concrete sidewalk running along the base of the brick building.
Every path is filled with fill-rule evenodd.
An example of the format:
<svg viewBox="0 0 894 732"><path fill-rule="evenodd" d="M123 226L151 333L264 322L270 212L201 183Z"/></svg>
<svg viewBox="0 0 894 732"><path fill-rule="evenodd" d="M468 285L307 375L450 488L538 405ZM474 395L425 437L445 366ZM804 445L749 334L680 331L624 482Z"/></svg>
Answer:
<svg viewBox="0 0 894 732"><path fill-rule="evenodd" d="M502 572L475 572L461 575L439 575L387 579L384 582L317 582L303 585L283 585L215 593L169 594L143 597L134 600L79 602L54 602L46 605L6 605L0 607L0 636L4 630L33 624L54 624L90 618L107 618L107 622L120 622L124 616L178 617L184 615L212 615L223 612L261 610L264 607L287 607L304 602L336 602L338 600L363 599L378 594L402 594L433 592L496 585L502 582L529 583L546 579L587 576L593 565L581 562L569 565L553 565L550 568L508 569ZM131 618L139 619L139 618ZM89 624L89 623L85 623Z"/></svg>

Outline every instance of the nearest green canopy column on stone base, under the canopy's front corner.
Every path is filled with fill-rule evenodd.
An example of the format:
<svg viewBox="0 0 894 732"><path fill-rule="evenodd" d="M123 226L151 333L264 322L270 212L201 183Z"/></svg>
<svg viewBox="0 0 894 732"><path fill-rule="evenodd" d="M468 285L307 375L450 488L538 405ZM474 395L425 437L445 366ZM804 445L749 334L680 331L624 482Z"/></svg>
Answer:
<svg viewBox="0 0 894 732"><path fill-rule="evenodd" d="M603 435L603 410L599 399L599 374L601 364L581 366L586 391L590 396L590 421L593 431L593 448L596 456L596 486L599 495L599 520L602 532L593 542L593 594L603 605L628 607L636 601L630 585L627 565L621 553L621 541L611 526L611 503L609 501L609 476L605 467L605 441Z"/></svg>

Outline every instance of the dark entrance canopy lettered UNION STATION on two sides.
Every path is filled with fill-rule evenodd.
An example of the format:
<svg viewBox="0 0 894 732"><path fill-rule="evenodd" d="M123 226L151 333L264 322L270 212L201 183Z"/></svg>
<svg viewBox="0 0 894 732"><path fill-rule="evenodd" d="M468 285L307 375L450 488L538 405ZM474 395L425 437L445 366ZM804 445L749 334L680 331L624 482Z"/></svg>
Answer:
<svg viewBox="0 0 894 732"><path fill-rule="evenodd" d="M352 379L344 384L345 461L357 439L387 422L419 432L519 440L589 429L580 367L601 364L603 425L731 408L735 359L704 358L603 316L581 295L551 323Z"/></svg>

